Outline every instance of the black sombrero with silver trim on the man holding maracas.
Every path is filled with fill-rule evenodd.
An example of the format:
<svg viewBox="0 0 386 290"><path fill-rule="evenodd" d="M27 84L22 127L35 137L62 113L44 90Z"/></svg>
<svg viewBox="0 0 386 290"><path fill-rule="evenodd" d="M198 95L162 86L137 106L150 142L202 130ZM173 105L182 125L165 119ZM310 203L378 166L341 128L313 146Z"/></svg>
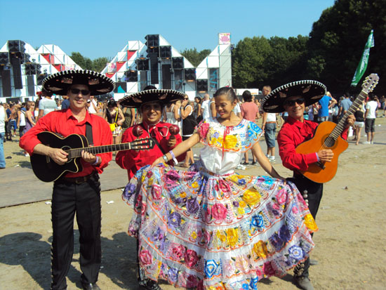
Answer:
<svg viewBox="0 0 386 290"><path fill-rule="evenodd" d="M184 97L185 93L180 91L151 89L127 95L119 100L119 104L124 107L140 107L145 103L159 101L166 105L175 100L182 100Z"/></svg>

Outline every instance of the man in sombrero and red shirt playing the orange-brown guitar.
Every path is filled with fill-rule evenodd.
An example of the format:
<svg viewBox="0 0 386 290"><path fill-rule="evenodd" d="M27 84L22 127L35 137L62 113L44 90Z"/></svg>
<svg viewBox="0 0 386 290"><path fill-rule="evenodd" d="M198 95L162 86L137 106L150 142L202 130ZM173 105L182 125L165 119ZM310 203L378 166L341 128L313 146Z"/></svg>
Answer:
<svg viewBox="0 0 386 290"><path fill-rule="evenodd" d="M288 119L277 136L279 154L283 165L293 171L293 178L288 180L295 183L298 190L302 192L314 219L323 195L323 183L315 183L305 178L300 171L306 171L314 162L331 162L333 151L322 149L309 154L299 154L295 149L300 143L314 137L318 124L304 119L303 114L305 107L316 103L325 95L325 92L326 86L319 81L295 81L276 88L262 100L265 112L288 112ZM353 115L347 118L346 129L342 133L343 138L347 139L347 129L354 124L354 121ZM308 277L309 268L310 258L295 267L294 282L300 289L314 289Z"/></svg>

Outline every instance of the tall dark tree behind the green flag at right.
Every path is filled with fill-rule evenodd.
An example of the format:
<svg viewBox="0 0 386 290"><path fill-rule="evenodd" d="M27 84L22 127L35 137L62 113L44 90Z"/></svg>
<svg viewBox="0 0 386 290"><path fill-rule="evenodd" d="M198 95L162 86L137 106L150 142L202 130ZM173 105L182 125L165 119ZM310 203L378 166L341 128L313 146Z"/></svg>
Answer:
<svg viewBox="0 0 386 290"><path fill-rule="evenodd" d="M307 72L319 78L330 91L359 92L351 80L374 29L375 47L371 48L368 74L378 73L376 91L385 91L386 81L386 6L385 0L336 0L314 22L310 32ZM366 75L366 73L365 73Z"/></svg>

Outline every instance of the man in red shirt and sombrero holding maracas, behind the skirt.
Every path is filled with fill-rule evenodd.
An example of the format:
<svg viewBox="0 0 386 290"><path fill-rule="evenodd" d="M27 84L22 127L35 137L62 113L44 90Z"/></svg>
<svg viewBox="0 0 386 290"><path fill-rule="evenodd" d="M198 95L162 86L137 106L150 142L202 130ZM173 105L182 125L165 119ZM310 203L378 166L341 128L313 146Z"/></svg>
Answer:
<svg viewBox="0 0 386 290"><path fill-rule="evenodd" d="M175 125L161 121L161 117L164 105L175 100L181 100L184 97L185 94L178 91L157 90L154 86L147 86L144 91L128 95L120 100L119 103L122 106L136 107L142 114L142 123L128 128L122 136L122 142L132 142L137 138L149 137L156 142L156 145L150 150L126 150L117 153L115 162L122 169L127 170L128 180L134 176L138 169L152 164L154 160L171 152L176 145L182 142L179 133L173 135L171 132ZM177 158L177 161L181 162L184 159L185 154L182 154ZM173 160L169 161L168 164L173 165ZM140 268L138 268L138 275L140 289L161 289L156 282L147 278Z"/></svg>

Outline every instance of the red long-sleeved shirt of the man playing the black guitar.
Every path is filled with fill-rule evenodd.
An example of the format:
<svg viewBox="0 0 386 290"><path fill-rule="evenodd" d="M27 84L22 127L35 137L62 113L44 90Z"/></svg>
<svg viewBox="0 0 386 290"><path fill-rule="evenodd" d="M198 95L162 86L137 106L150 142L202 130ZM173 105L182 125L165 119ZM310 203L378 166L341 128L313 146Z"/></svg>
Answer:
<svg viewBox="0 0 386 290"><path fill-rule="evenodd" d="M79 134L86 136L86 121L91 124L93 128L93 143L94 146L110 145L112 144L112 131L109 128L109 124L102 117L98 117L95 114L89 114L86 112L86 117L83 121L78 120L72 115L70 109L58 110L46 114L46 116L39 119L36 126L32 127L20 138L20 147L26 150L29 154L34 152L34 147L41 143L37 138L37 134L43 131L50 131L53 133L59 133L60 135L67 137L70 134ZM102 160L98 166L85 162L81 159L83 171L78 173L66 173L65 177L73 178L78 176L87 176L93 171L102 173L103 169L112 160L112 152L98 154Z"/></svg>

